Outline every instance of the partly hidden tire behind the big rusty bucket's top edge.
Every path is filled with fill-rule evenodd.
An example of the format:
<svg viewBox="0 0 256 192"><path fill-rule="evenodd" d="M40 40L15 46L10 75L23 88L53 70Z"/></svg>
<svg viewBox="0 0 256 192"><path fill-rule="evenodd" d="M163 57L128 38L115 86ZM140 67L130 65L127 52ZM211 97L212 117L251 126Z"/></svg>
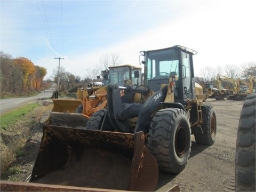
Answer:
<svg viewBox="0 0 256 192"><path fill-rule="evenodd" d="M100 109L92 114L88 120L85 129L86 130L100 130L103 119L105 118L105 123L102 126L101 131L114 131L114 127L111 125L109 118L107 116L108 109Z"/></svg>

